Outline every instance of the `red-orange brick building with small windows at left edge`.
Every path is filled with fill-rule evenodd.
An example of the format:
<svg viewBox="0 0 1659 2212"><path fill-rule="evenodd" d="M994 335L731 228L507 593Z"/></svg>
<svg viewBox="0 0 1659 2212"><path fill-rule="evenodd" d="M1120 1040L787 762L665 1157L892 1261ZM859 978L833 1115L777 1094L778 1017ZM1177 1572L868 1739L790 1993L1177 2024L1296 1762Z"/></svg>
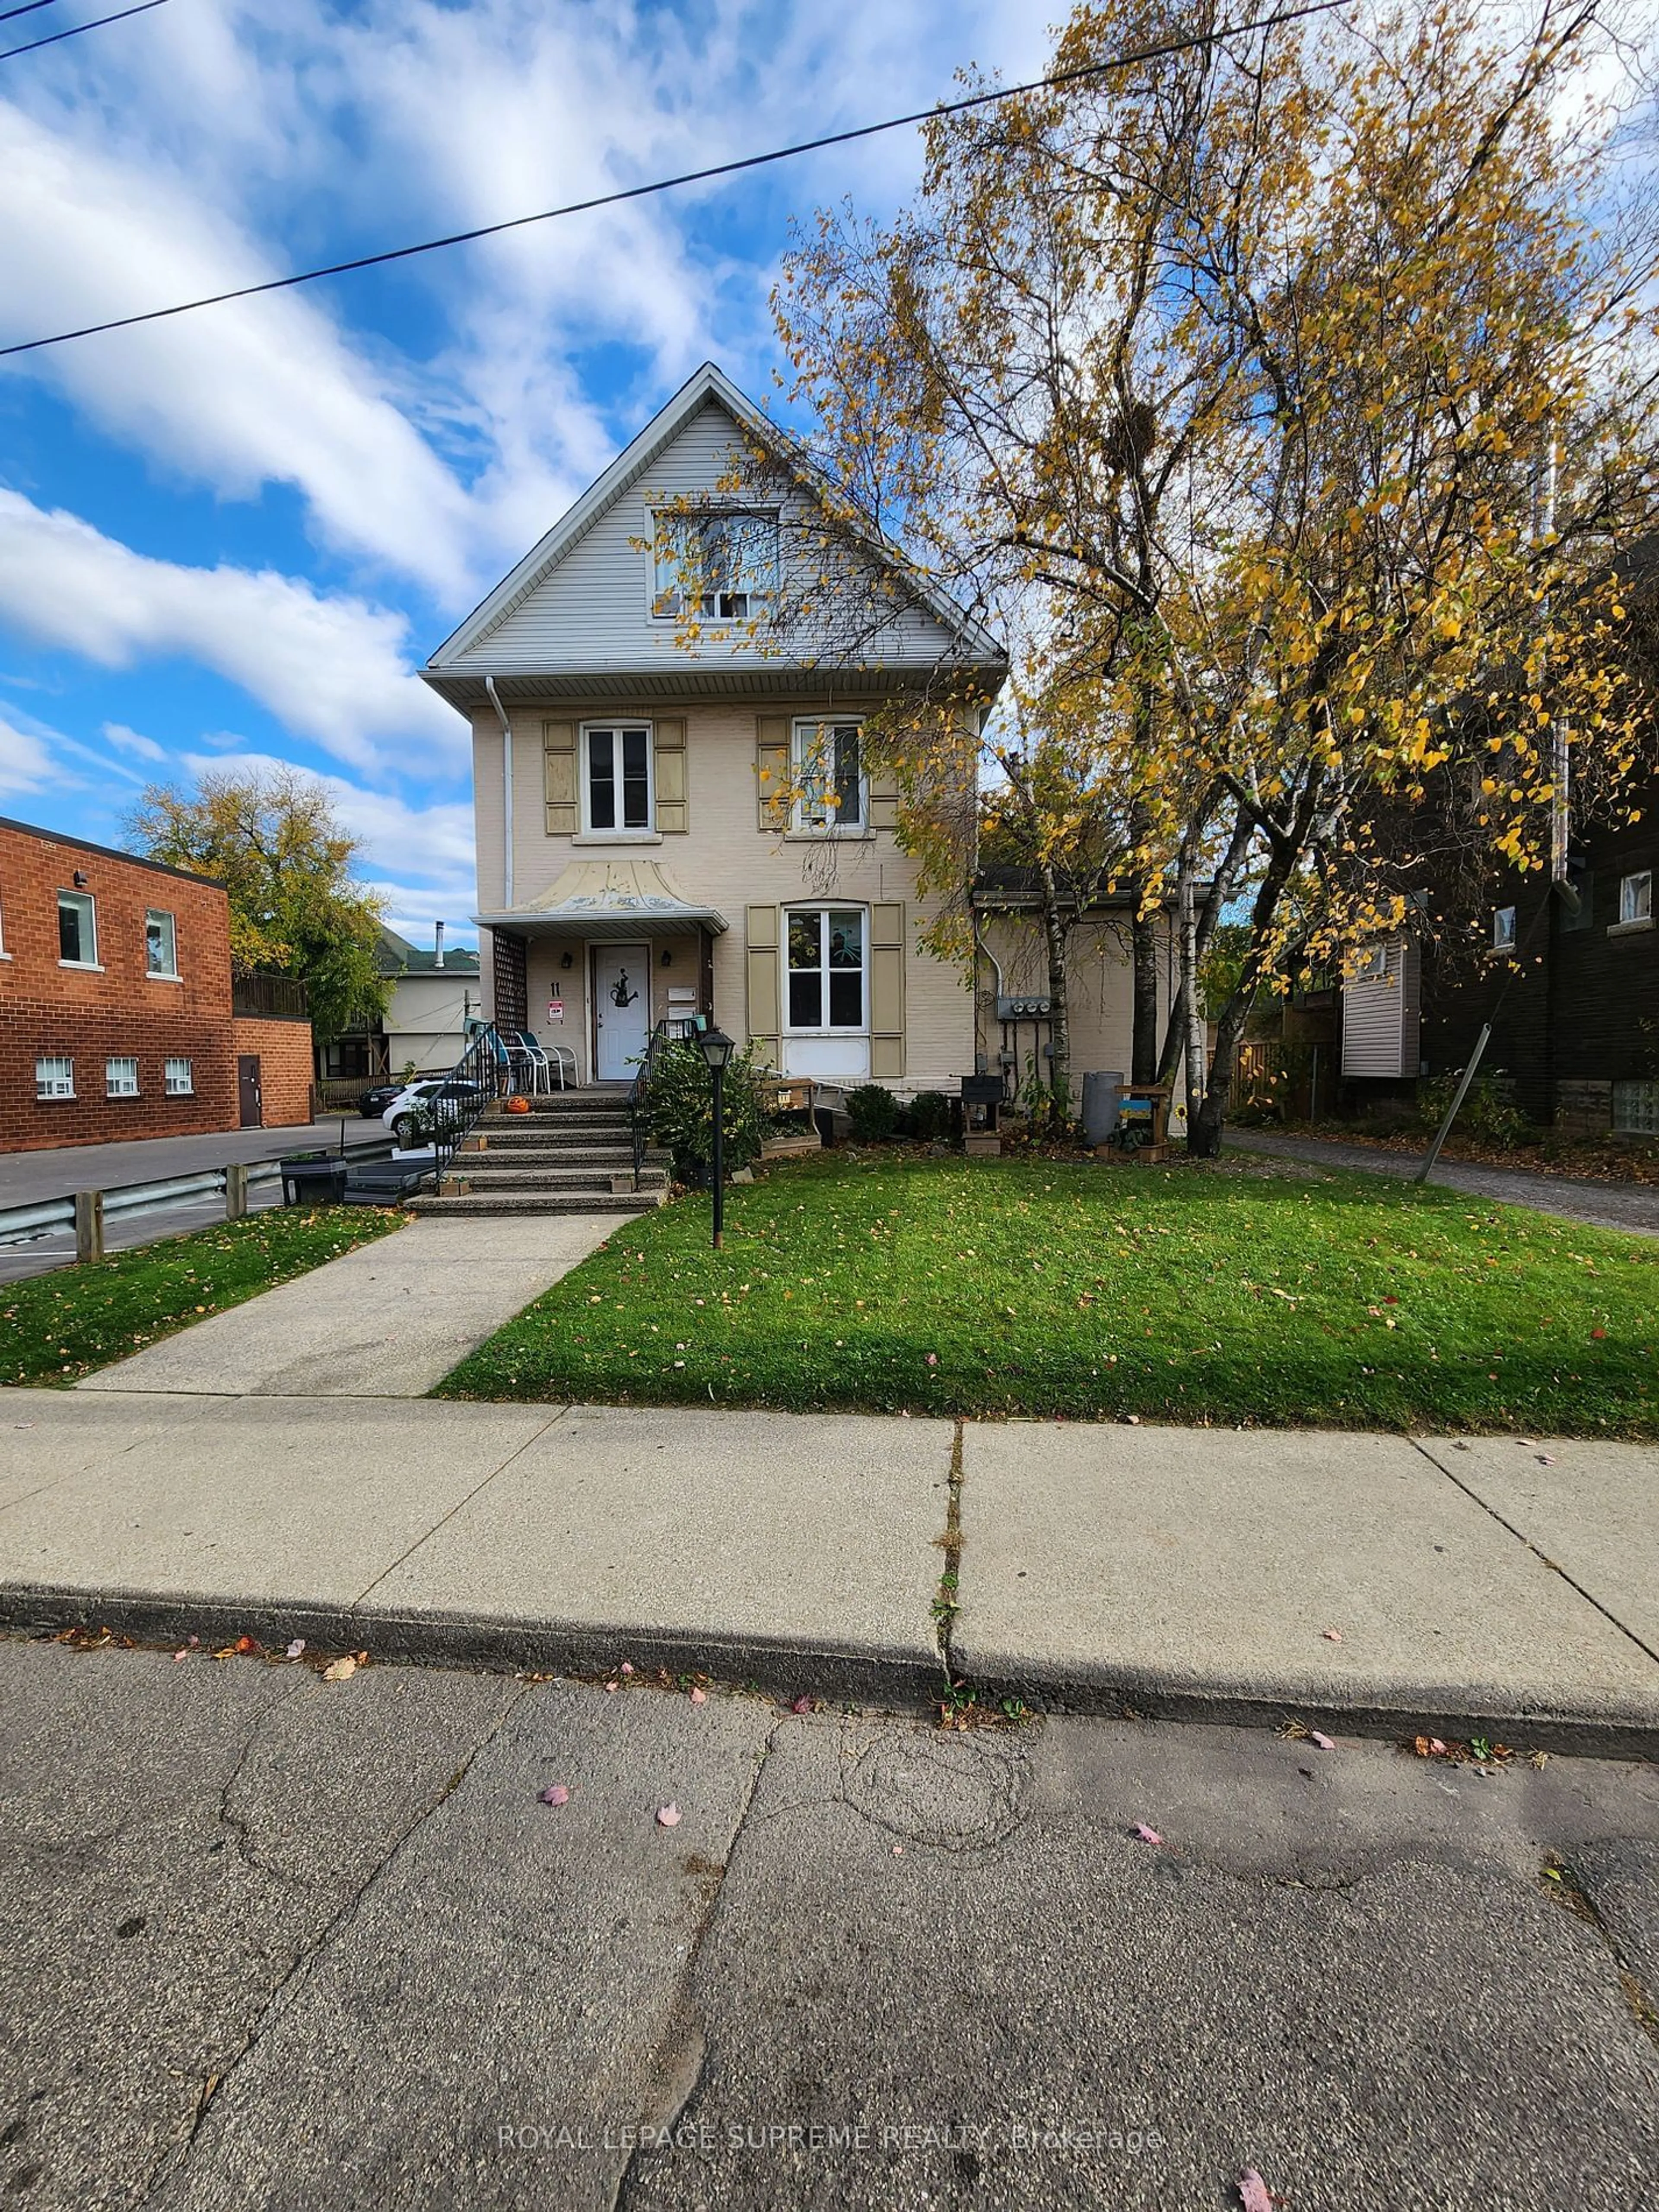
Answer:
<svg viewBox="0 0 1659 2212"><path fill-rule="evenodd" d="M234 1002L223 885L0 821L0 1150L303 1124L310 1064Z"/></svg>

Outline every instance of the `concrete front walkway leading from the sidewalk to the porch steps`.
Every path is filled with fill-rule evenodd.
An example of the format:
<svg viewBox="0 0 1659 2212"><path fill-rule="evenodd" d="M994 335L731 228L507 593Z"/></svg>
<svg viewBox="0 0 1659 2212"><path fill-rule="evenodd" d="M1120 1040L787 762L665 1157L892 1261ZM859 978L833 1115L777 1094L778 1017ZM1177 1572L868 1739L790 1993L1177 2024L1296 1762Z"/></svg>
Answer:
<svg viewBox="0 0 1659 2212"><path fill-rule="evenodd" d="M418 1398L617 1225L615 1214L411 1221L77 1387L212 1398Z"/></svg>

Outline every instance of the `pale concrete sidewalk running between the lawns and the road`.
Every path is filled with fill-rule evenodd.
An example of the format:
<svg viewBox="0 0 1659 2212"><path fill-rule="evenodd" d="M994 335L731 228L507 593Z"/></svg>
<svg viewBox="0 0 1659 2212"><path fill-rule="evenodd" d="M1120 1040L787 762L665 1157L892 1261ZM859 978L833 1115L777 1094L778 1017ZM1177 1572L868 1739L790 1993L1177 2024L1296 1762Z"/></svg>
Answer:
<svg viewBox="0 0 1659 2212"><path fill-rule="evenodd" d="M1659 1752L1650 1447L100 1383L0 1394L4 1626L911 1703L956 1564L1026 1701Z"/></svg>

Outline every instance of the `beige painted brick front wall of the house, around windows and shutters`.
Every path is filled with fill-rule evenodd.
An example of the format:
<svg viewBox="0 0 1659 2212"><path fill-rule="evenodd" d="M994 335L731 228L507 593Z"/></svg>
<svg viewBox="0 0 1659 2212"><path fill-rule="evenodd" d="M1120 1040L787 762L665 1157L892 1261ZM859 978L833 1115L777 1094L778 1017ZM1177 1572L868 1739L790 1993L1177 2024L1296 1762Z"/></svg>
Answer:
<svg viewBox="0 0 1659 2212"><path fill-rule="evenodd" d="M688 830L659 843L619 838L546 836L542 810L542 721L615 721L622 712L639 719L686 719ZM896 1091L927 1091L951 1084L973 1068L973 998L962 969L927 956L918 936L931 907L916 898L914 863L900 854L891 832L867 838L796 838L757 825L757 717L821 714L823 701L757 699L734 703L657 701L650 710L617 706L513 708L513 907L526 907L546 891L571 860L653 860L697 902L717 907L728 929L714 942L714 1013L737 1037L748 1035L745 1004L745 907L818 900L847 905L905 902L905 1075ZM480 909L500 911L502 880L502 734L493 712L473 721L473 772L478 818ZM560 969L573 949L571 969ZM661 967L661 945L653 953L653 1018L668 1011L670 982L695 982L695 940L670 945L672 967ZM489 938L484 933L484 964ZM529 1000L531 1026L577 1048L586 1071L588 960L573 940L531 938ZM549 987L557 984L564 1022L546 1022Z"/></svg>

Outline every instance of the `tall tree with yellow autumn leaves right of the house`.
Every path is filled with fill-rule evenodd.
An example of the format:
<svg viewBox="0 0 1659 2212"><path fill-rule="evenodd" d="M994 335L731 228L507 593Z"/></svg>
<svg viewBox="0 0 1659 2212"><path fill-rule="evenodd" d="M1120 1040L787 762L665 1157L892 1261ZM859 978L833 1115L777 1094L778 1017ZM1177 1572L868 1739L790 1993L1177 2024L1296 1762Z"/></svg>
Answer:
<svg viewBox="0 0 1659 2212"><path fill-rule="evenodd" d="M832 511L1002 628L1175 931L1199 1152L1263 989L1402 927L1447 841L1548 867L1568 785L1621 803L1655 513L1659 254L1597 7L1228 22L1079 7L1051 86L940 117L916 206L821 217L776 303Z"/></svg>

